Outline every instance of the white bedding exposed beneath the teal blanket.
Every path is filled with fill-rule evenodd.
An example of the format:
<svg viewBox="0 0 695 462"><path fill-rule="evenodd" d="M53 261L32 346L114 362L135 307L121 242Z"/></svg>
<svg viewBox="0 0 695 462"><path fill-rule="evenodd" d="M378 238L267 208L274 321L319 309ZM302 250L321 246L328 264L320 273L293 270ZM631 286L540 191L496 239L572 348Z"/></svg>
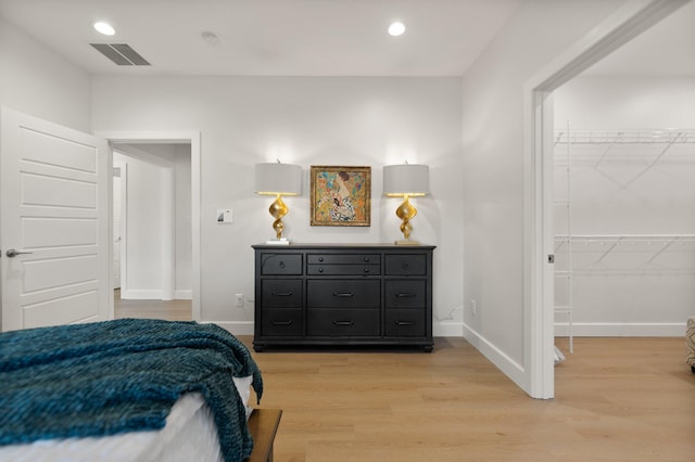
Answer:
<svg viewBox="0 0 695 462"><path fill-rule="evenodd" d="M244 403L252 377L233 378ZM247 405L247 419L251 408ZM0 447L0 461L13 462L207 462L222 461L217 429L202 395L184 395L157 432L132 432L100 438L65 438Z"/></svg>

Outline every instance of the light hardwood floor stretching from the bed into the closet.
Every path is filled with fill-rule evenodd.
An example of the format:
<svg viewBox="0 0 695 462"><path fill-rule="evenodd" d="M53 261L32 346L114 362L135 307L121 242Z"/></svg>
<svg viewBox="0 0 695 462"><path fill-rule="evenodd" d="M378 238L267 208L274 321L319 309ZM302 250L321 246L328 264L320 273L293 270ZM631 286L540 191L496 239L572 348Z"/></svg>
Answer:
<svg viewBox="0 0 695 462"><path fill-rule="evenodd" d="M251 336L239 336L251 345ZM277 462L695 461L684 338L576 338L529 398L463 338L434 351L253 352Z"/></svg>

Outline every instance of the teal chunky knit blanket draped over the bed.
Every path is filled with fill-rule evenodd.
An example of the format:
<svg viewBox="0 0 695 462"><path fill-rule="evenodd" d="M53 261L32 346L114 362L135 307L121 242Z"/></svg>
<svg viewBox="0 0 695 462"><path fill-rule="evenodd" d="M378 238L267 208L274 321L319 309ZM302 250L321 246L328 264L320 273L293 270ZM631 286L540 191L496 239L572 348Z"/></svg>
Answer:
<svg viewBox="0 0 695 462"><path fill-rule="evenodd" d="M249 349L214 324L122 319L0 334L0 445L164 427L185 393L212 410L225 461L253 440L231 376L261 372Z"/></svg>

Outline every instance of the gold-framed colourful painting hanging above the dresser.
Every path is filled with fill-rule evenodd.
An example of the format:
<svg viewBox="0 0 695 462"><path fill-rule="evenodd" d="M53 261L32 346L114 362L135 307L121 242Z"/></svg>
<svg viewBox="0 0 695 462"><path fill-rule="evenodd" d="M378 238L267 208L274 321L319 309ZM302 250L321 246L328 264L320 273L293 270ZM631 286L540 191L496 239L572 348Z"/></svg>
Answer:
<svg viewBox="0 0 695 462"><path fill-rule="evenodd" d="M371 167L312 165L313 227L368 227Z"/></svg>

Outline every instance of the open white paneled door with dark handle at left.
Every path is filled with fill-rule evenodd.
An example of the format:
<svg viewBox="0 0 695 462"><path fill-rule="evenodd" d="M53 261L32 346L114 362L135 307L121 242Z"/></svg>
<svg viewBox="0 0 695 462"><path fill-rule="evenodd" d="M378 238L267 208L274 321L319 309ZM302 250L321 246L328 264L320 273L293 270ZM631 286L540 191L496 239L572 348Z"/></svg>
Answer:
<svg viewBox="0 0 695 462"><path fill-rule="evenodd" d="M109 146L0 112L2 330L113 318Z"/></svg>

